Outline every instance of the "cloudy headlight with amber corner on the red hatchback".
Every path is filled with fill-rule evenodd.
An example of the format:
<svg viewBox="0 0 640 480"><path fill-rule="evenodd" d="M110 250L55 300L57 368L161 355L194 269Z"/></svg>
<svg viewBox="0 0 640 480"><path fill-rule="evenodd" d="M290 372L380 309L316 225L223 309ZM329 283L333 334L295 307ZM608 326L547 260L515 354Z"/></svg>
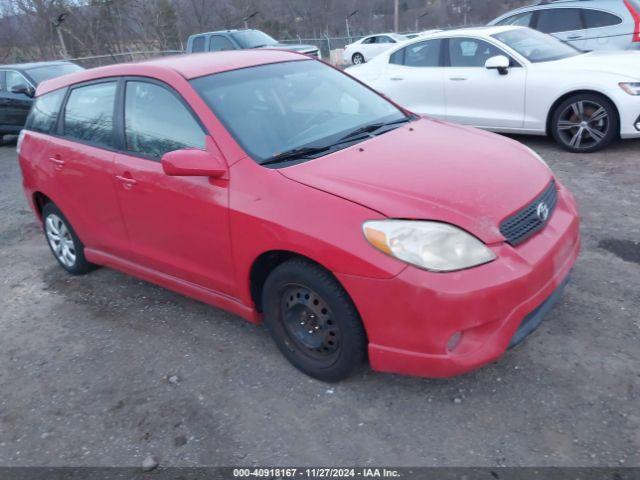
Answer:
<svg viewBox="0 0 640 480"><path fill-rule="evenodd" d="M434 272L452 272L495 260L476 237L453 225L412 220L374 220L362 225L378 250Z"/></svg>

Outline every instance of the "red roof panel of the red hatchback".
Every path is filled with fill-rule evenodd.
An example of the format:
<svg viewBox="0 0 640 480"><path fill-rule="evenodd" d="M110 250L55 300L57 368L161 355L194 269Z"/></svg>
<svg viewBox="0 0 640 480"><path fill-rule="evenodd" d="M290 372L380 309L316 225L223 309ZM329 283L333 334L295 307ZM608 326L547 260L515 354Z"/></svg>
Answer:
<svg viewBox="0 0 640 480"><path fill-rule="evenodd" d="M160 57L143 62L119 63L107 67L91 68L82 72L47 80L38 86L38 95L74 83L97 80L104 77L140 75L143 71L152 74L153 72L169 70L177 72L187 80L190 80L204 75L237 70L239 68L305 59L308 59L308 57L303 54L275 49L230 50L226 52Z"/></svg>

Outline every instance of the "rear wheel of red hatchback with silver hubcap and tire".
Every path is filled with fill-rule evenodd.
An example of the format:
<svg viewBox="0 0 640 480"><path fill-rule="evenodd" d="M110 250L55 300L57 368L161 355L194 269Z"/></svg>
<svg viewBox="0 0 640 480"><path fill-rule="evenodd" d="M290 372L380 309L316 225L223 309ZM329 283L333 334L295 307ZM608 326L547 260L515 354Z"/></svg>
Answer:
<svg viewBox="0 0 640 480"><path fill-rule="evenodd" d="M62 268L72 275L83 275L96 268L87 262L84 245L58 207L47 203L42 209L42 219L47 244Z"/></svg>

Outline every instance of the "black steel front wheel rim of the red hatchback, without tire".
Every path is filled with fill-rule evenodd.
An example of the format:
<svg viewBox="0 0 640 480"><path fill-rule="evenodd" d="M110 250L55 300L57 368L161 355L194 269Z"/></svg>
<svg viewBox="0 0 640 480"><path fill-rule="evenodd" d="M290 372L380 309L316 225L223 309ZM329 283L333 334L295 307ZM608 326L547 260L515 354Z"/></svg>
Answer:
<svg viewBox="0 0 640 480"><path fill-rule="evenodd" d="M287 285L281 297L282 323L296 350L322 363L340 354L340 329L327 303L302 285Z"/></svg>

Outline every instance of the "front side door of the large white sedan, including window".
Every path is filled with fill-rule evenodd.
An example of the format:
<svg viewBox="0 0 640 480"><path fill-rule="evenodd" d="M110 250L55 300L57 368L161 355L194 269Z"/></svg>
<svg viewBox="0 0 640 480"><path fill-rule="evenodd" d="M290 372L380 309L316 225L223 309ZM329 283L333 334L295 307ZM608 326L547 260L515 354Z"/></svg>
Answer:
<svg viewBox="0 0 640 480"><path fill-rule="evenodd" d="M512 60L505 75L485 68L486 61L506 55L484 40L448 40L444 86L447 120L487 128L522 128L525 114L526 68Z"/></svg>

